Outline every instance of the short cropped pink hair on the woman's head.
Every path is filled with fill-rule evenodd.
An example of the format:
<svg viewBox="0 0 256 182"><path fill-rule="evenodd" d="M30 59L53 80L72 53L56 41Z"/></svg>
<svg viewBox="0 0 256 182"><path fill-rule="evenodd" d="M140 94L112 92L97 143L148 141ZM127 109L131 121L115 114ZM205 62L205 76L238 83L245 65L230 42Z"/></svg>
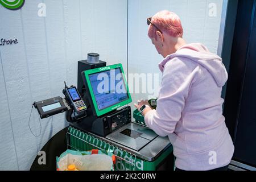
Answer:
<svg viewBox="0 0 256 182"><path fill-rule="evenodd" d="M161 31L167 32L167 34L170 36L175 38L177 36L183 36L183 28L180 18L175 13L167 10L160 11L152 17L151 22L155 24L155 26L158 27ZM150 24L148 27L148 36L151 39L156 39L156 31L157 29L152 26L152 24Z"/></svg>

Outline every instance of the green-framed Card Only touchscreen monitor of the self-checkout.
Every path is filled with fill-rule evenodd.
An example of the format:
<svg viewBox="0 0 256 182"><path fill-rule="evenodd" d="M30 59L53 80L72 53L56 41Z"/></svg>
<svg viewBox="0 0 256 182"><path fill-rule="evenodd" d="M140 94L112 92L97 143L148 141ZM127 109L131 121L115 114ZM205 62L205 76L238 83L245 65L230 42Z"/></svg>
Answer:
<svg viewBox="0 0 256 182"><path fill-rule="evenodd" d="M131 102L121 64L90 69L84 73L98 116Z"/></svg>

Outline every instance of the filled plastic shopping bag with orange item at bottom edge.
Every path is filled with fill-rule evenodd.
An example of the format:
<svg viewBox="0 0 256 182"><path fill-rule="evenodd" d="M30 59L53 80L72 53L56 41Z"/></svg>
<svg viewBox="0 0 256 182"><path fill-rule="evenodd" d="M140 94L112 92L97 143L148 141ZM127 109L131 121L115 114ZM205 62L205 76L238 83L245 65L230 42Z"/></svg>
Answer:
<svg viewBox="0 0 256 182"><path fill-rule="evenodd" d="M115 156L100 150L67 150L56 158L56 163L57 171L113 171Z"/></svg>

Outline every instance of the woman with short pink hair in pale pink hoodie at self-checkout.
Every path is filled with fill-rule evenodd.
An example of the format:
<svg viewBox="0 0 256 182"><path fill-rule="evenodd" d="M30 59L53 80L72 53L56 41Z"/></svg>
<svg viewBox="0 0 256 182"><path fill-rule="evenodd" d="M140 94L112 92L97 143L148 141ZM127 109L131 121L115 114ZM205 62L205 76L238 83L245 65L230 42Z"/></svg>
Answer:
<svg viewBox="0 0 256 182"><path fill-rule="evenodd" d="M227 170L234 146L222 115L228 73L221 57L200 43L186 44L179 17L160 11L148 18L148 36L164 57L156 110L134 104L146 125L170 139L177 170Z"/></svg>

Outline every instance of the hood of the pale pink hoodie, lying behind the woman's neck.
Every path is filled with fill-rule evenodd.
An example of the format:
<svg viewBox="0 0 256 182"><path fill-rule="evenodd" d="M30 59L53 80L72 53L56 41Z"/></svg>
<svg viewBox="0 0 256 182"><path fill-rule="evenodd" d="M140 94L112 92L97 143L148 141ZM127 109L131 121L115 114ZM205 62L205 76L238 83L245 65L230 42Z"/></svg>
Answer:
<svg viewBox="0 0 256 182"><path fill-rule="evenodd" d="M226 72L226 68L222 63L221 57L215 55L214 53L210 53L207 47L205 47L203 44L194 43L182 46L175 53L168 55L159 63L160 71L163 72L164 65L175 57L185 57L195 61L197 64L200 64L202 67L207 69L210 75L212 75L218 86L224 86L228 80L228 73Z"/></svg>

